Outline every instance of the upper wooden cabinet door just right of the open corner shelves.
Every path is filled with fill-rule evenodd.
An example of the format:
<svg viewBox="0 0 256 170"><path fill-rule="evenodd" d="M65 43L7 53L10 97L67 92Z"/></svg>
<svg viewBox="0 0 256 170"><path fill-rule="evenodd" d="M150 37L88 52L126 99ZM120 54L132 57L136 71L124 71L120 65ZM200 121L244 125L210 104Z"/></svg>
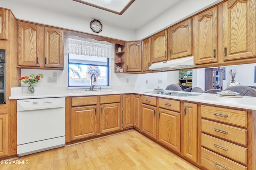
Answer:
<svg viewBox="0 0 256 170"><path fill-rule="evenodd" d="M126 42L126 72L141 71L141 56L142 56L141 41Z"/></svg>

